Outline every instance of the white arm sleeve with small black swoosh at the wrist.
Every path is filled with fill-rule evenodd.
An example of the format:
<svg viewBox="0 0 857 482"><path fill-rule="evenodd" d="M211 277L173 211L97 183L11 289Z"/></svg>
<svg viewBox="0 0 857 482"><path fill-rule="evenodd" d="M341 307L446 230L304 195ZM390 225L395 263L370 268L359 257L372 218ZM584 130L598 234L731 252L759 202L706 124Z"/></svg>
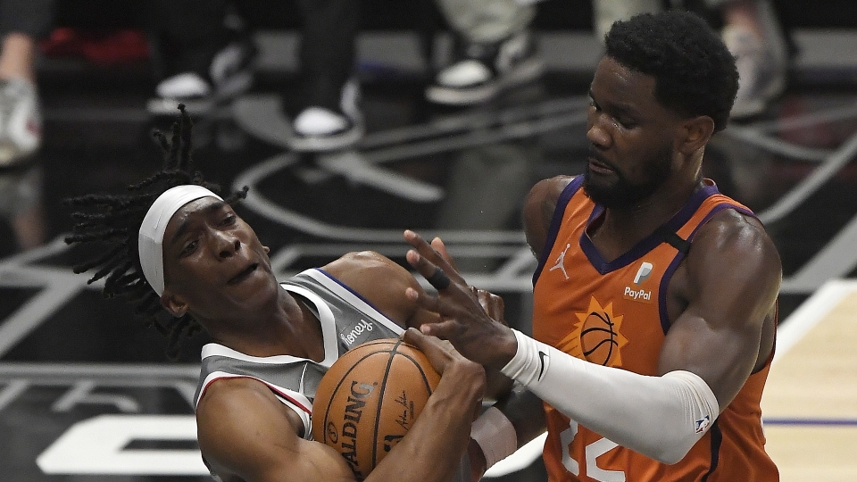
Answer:
<svg viewBox="0 0 857 482"><path fill-rule="evenodd" d="M689 371L650 377L579 360L521 334L503 374L616 444L680 461L717 418L711 388Z"/></svg>

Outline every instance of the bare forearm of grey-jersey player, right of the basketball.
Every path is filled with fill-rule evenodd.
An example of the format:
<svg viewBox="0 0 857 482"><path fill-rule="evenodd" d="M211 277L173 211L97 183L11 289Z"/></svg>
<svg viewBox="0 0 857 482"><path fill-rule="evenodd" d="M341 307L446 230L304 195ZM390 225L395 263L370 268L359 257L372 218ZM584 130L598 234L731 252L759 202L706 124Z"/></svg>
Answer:
<svg viewBox="0 0 857 482"><path fill-rule="evenodd" d="M366 482L448 482L470 442L470 424L485 389L481 367L447 368L420 416Z"/></svg>

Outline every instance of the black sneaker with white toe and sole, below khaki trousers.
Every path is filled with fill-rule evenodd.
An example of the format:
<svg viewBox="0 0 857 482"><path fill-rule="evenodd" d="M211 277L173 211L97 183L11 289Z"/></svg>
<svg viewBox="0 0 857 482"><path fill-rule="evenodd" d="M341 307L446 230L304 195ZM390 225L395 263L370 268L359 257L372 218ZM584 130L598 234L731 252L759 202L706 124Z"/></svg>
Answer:
<svg viewBox="0 0 857 482"><path fill-rule="evenodd" d="M527 31L495 44L456 43L456 62L438 72L426 89L430 102L480 104L503 89L538 79L545 71L535 40Z"/></svg>

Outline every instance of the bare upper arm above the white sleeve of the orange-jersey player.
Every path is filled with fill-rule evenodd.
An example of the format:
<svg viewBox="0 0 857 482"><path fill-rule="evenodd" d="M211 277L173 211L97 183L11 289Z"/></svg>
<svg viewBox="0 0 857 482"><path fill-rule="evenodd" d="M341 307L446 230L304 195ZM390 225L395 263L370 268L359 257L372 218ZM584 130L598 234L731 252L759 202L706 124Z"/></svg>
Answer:
<svg viewBox="0 0 857 482"><path fill-rule="evenodd" d="M686 307L667 333L659 371L695 373L723 411L773 348L779 255L759 220L725 210L700 229L679 275Z"/></svg>

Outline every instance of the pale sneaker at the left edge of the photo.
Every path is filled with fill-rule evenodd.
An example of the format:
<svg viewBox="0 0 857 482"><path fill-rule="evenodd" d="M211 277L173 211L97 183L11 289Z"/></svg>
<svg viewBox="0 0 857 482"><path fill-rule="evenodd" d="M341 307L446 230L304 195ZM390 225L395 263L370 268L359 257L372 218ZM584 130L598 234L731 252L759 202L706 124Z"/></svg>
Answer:
<svg viewBox="0 0 857 482"><path fill-rule="evenodd" d="M26 160L41 144L36 86L24 79L0 79L0 168Z"/></svg>

